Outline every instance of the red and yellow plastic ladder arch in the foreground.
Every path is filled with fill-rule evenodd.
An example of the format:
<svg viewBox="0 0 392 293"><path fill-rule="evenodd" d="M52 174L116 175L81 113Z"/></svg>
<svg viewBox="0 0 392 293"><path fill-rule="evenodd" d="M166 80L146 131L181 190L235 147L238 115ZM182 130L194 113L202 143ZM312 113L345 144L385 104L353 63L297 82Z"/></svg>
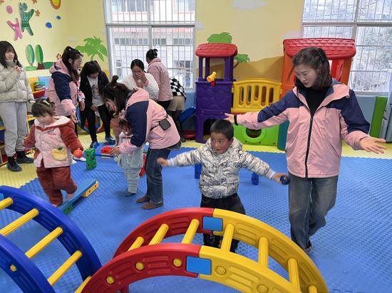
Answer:
<svg viewBox="0 0 392 293"><path fill-rule="evenodd" d="M192 244L196 233L222 235L220 248ZM181 243L164 238L185 234ZM230 252L232 239L259 249L257 261ZM269 269L269 257L289 279ZM247 215L213 208L182 208L150 218L120 244L82 293L128 292L128 284L163 275L200 277L240 292L326 293L314 262L286 235Z"/></svg>

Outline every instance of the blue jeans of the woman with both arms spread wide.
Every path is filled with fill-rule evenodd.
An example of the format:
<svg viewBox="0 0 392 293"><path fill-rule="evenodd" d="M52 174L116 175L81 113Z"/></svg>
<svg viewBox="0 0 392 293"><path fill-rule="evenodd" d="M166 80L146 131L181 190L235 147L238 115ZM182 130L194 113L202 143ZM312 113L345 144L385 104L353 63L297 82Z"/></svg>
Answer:
<svg viewBox="0 0 392 293"><path fill-rule="evenodd" d="M326 224L326 213L335 205L338 176L301 178L289 174L289 178L292 240L305 249L309 246L309 237Z"/></svg>

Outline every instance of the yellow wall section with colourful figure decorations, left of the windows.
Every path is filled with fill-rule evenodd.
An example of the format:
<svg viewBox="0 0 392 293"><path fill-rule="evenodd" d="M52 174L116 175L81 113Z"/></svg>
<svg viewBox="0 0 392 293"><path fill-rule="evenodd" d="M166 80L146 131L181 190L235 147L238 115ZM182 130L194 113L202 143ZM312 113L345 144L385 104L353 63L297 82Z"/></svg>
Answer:
<svg viewBox="0 0 392 293"><path fill-rule="evenodd" d="M22 1L22 3L24 3ZM33 48L41 45L43 50L43 61L55 61L57 53L63 53L66 46L83 46L83 39L96 36L103 40L103 45L107 48L105 37L105 20L103 16L103 1L94 0L67 0L61 1L59 9L54 9L48 0L38 0L36 4L33 1L26 0L28 10L34 9L40 11L39 16L33 14L29 23L33 31L30 36L24 31L23 38L14 41L14 31L6 24L6 21L15 23L15 18L21 16L19 14L19 1L4 0L0 4L0 40L9 41L14 46L20 62L26 66L29 65L26 58L26 46L31 44ZM12 14L6 11L6 7L11 6ZM58 20L56 16L61 16ZM46 28L45 24L50 22L52 28ZM84 54L83 61L90 58ZM98 56L94 58L98 60L103 69L108 69L108 58L104 61ZM33 65L37 65L35 62ZM48 70L26 71L29 77L49 75Z"/></svg>

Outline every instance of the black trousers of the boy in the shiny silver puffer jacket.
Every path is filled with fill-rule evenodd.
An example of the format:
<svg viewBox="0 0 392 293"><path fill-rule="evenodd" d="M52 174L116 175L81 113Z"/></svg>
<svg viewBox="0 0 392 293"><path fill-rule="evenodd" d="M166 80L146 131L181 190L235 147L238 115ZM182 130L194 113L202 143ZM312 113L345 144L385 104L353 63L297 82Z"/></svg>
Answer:
<svg viewBox="0 0 392 293"><path fill-rule="evenodd" d="M241 200L239 199L237 193L234 193L231 196L227 196L226 198L219 199L209 198L202 195L202 202L200 203L200 208L220 208L222 210L233 211L245 215L244 206L242 206ZM204 245L219 248L222 236L203 234L203 239ZM238 240L232 240L232 245L230 247L231 252L235 252L238 243Z"/></svg>

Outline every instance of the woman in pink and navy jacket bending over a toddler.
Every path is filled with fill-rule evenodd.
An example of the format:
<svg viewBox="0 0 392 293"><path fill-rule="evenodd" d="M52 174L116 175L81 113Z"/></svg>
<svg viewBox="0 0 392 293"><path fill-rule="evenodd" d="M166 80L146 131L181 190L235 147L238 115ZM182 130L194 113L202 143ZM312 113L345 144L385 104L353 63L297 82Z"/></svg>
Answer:
<svg viewBox="0 0 392 293"><path fill-rule="evenodd" d="M171 149L180 147L180 135L172 117L150 99L146 90L138 88L133 93L125 85L116 82L117 79L118 76L113 76L104 95L115 100L118 112L125 109L125 119L132 136L128 140L123 139L123 143L115 146L110 154L130 154L145 142L149 143L145 159L147 192L137 202L148 202L142 206L143 209L159 208L163 206L163 183L162 166L157 163L157 159L167 159Z"/></svg>

